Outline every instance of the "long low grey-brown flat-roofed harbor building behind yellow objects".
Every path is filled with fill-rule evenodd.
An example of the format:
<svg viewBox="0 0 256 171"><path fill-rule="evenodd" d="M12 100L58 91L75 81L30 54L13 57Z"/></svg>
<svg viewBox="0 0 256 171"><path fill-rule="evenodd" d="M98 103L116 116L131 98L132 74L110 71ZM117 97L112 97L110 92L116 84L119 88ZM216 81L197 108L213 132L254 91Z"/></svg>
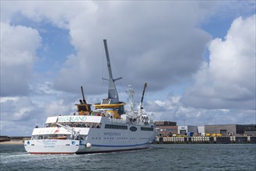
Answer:
<svg viewBox="0 0 256 171"><path fill-rule="evenodd" d="M242 124L214 124L205 125L206 134L242 135L244 125Z"/></svg>

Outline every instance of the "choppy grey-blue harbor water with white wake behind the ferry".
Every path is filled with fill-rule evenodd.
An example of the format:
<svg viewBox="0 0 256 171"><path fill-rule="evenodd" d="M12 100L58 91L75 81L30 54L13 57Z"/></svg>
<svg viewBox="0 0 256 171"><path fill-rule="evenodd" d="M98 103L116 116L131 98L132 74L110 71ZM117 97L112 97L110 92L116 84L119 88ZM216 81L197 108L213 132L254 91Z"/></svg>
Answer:
<svg viewBox="0 0 256 171"><path fill-rule="evenodd" d="M0 145L0 170L256 170L256 145L152 145L134 152L29 155Z"/></svg>

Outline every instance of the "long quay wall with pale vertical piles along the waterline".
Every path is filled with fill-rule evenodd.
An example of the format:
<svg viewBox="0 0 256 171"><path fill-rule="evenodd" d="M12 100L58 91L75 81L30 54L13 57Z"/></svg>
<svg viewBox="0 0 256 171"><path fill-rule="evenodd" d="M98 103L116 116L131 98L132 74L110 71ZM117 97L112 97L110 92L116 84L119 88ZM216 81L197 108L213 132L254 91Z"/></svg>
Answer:
<svg viewBox="0 0 256 171"><path fill-rule="evenodd" d="M256 144L256 137L163 137L156 138L156 144Z"/></svg>

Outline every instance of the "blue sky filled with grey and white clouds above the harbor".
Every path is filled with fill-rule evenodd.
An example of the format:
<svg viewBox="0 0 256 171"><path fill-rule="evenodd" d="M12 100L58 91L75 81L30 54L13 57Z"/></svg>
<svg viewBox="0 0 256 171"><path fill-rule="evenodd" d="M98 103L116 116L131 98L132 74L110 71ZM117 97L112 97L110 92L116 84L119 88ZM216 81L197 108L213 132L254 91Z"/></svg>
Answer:
<svg viewBox="0 0 256 171"><path fill-rule="evenodd" d="M119 99L154 120L256 124L255 1L1 1L1 135L30 136L82 99ZM128 108L126 108L128 110Z"/></svg>

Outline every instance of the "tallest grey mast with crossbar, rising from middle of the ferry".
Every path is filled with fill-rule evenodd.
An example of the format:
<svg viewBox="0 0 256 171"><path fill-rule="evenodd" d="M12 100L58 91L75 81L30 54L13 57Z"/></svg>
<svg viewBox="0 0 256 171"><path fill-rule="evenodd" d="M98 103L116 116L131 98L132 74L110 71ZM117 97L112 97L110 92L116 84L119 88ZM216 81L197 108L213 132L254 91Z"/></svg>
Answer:
<svg viewBox="0 0 256 171"><path fill-rule="evenodd" d="M109 58L108 49L107 49L107 40L103 40L103 43L104 43L106 57L107 57L107 69L108 69L108 74L109 74L109 79L105 79L109 82L107 98L110 99L109 103L119 103L117 88L116 88L114 82L117 81L118 79L122 79L122 78L120 77L117 79L113 79L112 70L111 70L111 66L110 66L110 58Z"/></svg>

